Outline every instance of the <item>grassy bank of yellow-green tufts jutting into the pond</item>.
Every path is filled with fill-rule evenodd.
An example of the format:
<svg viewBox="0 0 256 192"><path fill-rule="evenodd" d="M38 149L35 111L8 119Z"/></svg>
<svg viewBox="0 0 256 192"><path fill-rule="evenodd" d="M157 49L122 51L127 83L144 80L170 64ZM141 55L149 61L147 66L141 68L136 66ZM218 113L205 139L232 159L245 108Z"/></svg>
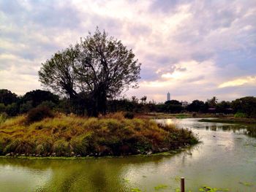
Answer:
<svg viewBox="0 0 256 192"><path fill-rule="evenodd" d="M0 125L0 155L151 154L197 142L189 130L120 114L108 118L58 115L30 124L20 116Z"/></svg>

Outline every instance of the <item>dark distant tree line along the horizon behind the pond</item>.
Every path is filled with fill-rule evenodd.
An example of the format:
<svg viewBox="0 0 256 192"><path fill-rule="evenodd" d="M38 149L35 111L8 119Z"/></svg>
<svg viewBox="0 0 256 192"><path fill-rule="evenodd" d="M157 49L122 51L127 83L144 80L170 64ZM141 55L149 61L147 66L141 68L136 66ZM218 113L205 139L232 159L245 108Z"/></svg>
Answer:
<svg viewBox="0 0 256 192"><path fill-rule="evenodd" d="M48 107L56 112L76 115L88 115L84 100L70 101L67 97L60 97L50 91L34 90L17 96L7 89L0 90L0 113L15 116L29 112L36 107ZM246 96L234 101L217 101L216 97L207 101L194 100L187 106L182 106L181 101L171 100L165 103L147 101L147 97L108 99L106 113L109 112L198 112L198 113L223 113L236 114L241 118L256 118L256 97Z"/></svg>

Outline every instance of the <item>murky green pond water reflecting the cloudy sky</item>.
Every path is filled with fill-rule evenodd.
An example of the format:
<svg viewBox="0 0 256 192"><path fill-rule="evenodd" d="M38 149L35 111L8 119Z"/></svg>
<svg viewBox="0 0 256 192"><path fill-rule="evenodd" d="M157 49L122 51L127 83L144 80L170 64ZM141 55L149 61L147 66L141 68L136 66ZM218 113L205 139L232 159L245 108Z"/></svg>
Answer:
<svg viewBox="0 0 256 192"><path fill-rule="evenodd" d="M256 138L245 126L159 120L192 128L201 144L168 156L80 160L0 158L0 191L176 191L202 185L256 191Z"/></svg>

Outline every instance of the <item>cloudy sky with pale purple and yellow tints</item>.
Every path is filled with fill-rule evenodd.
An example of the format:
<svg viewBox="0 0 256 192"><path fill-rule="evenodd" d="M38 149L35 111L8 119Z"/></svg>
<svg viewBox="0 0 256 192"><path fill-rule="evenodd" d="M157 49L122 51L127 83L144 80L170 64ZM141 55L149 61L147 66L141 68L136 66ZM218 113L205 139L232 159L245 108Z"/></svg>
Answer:
<svg viewBox="0 0 256 192"><path fill-rule="evenodd" d="M256 95L256 1L0 0L0 88L42 89L42 63L96 27L142 64L148 100L219 101Z"/></svg>

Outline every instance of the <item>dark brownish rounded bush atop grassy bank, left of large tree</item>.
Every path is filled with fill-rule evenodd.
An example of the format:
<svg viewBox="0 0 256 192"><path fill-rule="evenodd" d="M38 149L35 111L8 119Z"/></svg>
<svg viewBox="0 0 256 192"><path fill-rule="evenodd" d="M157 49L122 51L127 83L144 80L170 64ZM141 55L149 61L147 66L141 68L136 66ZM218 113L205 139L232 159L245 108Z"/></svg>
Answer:
<svg viewBox="0 0 256 192"><path fill-rule="evenodd" d="M44 118L53 118L53 112L48 107L39 106L28 112L26 123L33 123Z"/></svg>

